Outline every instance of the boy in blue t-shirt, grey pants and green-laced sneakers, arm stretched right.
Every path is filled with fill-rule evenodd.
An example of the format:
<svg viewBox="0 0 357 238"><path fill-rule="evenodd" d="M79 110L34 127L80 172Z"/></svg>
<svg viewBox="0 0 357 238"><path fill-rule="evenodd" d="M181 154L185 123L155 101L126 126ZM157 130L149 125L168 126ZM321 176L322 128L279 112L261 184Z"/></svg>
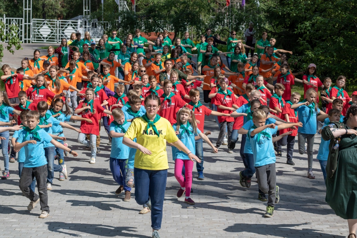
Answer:
<svg viewBox="0 0 357 238"><path fill-rule="evenodd" d="M259 188L263 193L268 193L268 206L264 216L272 217L275 201L276 199L279 201L279 187L276 186L276 157L272 136L281 129L292 126L302 127L302 123L283 123L278 126L274 124L265 125L266 114L260 109L253 112L252 117L254 126L248 131L247 137L250 139L253 151Z"/></svg>

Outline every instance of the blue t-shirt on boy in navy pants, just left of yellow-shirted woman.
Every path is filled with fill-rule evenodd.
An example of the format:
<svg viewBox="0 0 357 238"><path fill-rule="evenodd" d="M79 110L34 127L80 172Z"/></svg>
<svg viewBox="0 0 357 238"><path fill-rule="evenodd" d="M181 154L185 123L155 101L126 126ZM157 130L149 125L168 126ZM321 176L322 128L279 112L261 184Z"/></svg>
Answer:
<svg viewBox="0 0 357 238"><path fill-rule="evenodd" d="M123 126L127 131L131 122L125 123ZM109 131L114 131L117 133L125 133L121 130L121 128L115 128L114 122L110 123ZM129 158L130 147L123 144L123 137L112 137L112 146L110 157L115 159L128 159Z"/></svg>

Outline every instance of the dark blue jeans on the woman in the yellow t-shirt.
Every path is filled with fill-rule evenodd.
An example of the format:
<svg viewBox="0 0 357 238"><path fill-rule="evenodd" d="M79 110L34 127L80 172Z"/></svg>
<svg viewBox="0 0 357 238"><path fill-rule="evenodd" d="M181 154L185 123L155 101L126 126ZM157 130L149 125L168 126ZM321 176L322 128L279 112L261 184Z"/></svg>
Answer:
<svg viewBox="0 0 357 238"><path fill-rule="evenodd" d="M139 205L151 202L151 227L161 229L167 169L148 170L134 168L135 201Z"/></svg>

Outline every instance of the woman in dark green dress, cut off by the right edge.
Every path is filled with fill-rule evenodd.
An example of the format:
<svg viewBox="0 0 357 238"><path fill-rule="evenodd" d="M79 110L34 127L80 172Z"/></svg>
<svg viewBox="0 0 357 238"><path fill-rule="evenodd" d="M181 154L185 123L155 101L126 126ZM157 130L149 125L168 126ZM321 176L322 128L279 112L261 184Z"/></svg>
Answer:
<svg viewBox="0 0 357 238"><path fill-rule="evenodd" d="M343 122L322 129L323 140L331 140L326 166L326 202L337 216L347 219L348 238L357 228L357 103L351 105Z"/></svg>

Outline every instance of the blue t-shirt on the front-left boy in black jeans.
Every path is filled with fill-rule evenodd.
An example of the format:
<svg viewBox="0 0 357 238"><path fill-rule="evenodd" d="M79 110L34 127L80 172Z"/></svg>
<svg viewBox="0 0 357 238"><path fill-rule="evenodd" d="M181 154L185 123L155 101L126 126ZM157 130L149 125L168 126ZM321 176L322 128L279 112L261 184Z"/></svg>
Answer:
<svg viewBox="0 0 357 238"><path fill-rule="evenodd" d="M29 133L29 135L25 137L26 131L21 130L19 132L19 137L17 138L17 142L22 143L25 141L36 140L36 144L27 144L24 146L25 148L25 168L34 168L40 167L47 164L46 156L45 156L45 144L51 144L52 137L44 130L40 129L37 131L40 136L40 140L33 136L33 133ZM52 144L51 144L52 145ZM53 145L52 145L53 146Z"/></svg>

